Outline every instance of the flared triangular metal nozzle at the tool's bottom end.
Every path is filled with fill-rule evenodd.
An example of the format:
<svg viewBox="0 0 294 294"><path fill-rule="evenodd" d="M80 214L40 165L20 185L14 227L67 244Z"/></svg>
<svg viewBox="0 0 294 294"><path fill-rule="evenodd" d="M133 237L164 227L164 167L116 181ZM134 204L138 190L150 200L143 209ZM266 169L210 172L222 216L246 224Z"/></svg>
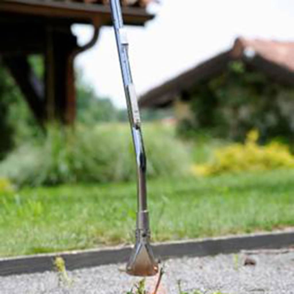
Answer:
<svg viewBox="0 0 294 294"><path fill-rule="evenodd" d="M158 273L158 264L149 243L136 243L127 264L127 273L135 276L153 276Z"/></svg>

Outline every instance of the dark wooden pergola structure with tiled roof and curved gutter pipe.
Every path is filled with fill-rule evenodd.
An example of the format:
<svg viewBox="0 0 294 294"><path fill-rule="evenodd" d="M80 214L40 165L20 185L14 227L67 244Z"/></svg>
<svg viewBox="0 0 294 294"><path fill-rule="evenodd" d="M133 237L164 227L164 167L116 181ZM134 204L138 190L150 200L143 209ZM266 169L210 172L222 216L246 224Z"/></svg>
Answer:
<svg viewBox="0 0 294 294"><path fill-rule="evenodd" d="M40 123L58 119L73 123L76 116L74 58L98 39L101 26L111 25L107 1L98 0L2 0L0 2L0 58L19 85ZM128 4L128 1L123 1ZM123 7L126 24L144 25L153 18L146 12L148 1L131 1ZM141 4L141 5L140 5ZM72 24L91 24L94 33L85 46L77 44ZM44 56L41 81L27 57ZM0 97L1 98L1 97Z"/></svg>

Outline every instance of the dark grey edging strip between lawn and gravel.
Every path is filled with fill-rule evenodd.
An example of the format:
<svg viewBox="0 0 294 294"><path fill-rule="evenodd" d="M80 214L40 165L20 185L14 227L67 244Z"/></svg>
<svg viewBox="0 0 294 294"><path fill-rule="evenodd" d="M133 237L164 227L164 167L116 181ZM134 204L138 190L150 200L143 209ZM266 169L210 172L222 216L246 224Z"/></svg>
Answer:
<svg viewBox="0 0 294 294"><path fill-rule="evenodd" d="M156 243L153 249L156 257L165 260L183 256L235 253L240 250L278 249L291 245L294 245L294 230ZM0 259L0 276L52 270L53 260L57 255L65 259L68 270L74 270L111 263L124 263L128 260L130 253L131 247L128 246L2 258Z"/></svg>

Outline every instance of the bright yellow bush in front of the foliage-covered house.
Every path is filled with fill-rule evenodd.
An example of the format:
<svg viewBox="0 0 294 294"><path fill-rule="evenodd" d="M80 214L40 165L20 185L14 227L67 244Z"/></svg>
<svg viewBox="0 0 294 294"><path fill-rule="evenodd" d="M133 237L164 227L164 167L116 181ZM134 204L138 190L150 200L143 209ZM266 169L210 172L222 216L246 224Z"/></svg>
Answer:
<svg viewBox="0 0 294 294"><path fill-rule="evenodd" d="M258 131L250 131L244 144L234 143L216 150L213 161L193 166L193 173L209 176L223 172L294 168L294 156L287 145L271 142L260 146L257 143L258 138Z"/></svg>

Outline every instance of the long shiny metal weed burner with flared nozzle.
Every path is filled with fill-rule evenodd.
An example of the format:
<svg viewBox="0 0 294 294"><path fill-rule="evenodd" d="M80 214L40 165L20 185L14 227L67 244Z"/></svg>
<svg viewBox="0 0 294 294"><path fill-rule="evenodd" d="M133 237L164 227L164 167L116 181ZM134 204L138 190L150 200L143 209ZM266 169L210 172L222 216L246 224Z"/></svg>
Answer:
<svg viewBox="0 0 294 294"><path fill-rule="evenodd" d="M154 259L150 245L146 196L146 156L141 133L140 113L128 59L128 39L123 28L120 2L119 0L111 0L110 5L137 164L138 211L136 244L126 270L130 275L151 276L158 272L158 264Z"/></svg>

